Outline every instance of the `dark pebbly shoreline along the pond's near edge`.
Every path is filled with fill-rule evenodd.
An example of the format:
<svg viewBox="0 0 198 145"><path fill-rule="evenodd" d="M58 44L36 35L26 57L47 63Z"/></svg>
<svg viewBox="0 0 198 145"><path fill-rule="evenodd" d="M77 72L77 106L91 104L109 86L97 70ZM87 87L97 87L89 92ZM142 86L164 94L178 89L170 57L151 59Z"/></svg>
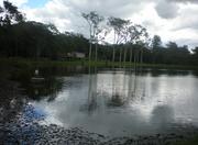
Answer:
<svg viewBox="0 0 198 145"><path fill-rule="evenodd" d="M2 124L0 124L0 130ZM184 130L184 129L183 129ZM58 144L58 145L175 145L191 140L198 133L197 129L187 127L183 132L169 134L134 135L108 137L90 133L78 127L64 129L37 122L10 122L3 126L2 144Z"/></svg>

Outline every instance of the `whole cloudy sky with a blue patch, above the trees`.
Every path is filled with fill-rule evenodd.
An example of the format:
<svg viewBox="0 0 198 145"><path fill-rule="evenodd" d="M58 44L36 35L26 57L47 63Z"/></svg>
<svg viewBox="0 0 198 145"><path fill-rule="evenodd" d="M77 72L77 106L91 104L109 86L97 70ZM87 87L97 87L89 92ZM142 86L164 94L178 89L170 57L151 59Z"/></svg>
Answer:
<svg viewBox="0 0 198 145"><path fill-rule="evenodd" d="M3 0L0 0L2 3ZM163 42L198 46L198 0L10 0L28 20L54 23L59 31L86 34L81 12L130 19Z"/></svg>

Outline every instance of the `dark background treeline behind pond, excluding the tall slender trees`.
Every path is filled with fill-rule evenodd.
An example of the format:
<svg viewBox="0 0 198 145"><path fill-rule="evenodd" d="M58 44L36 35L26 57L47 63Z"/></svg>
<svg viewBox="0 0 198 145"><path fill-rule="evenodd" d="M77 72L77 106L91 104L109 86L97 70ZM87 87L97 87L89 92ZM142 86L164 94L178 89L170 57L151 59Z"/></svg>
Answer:
<svg viewBox="0 0 198 145"><path fill-rule="evenodd" d="M70 52L89 55L89 40L81 34L61 33L53 24L25 21L23 14L9 1L0 7L0 56L59 59ZM96 44L92 43L95 46ZM155 35L150 45L143 43L97 44L92 48L94 59L132 62L140 60L153 64L198 65L198 47L189 52L188 46L178 46L169 42L162 45L161 37ZM130 55L132 54L132 55ZM125 55L124 58L120 55Z"/></svg>

